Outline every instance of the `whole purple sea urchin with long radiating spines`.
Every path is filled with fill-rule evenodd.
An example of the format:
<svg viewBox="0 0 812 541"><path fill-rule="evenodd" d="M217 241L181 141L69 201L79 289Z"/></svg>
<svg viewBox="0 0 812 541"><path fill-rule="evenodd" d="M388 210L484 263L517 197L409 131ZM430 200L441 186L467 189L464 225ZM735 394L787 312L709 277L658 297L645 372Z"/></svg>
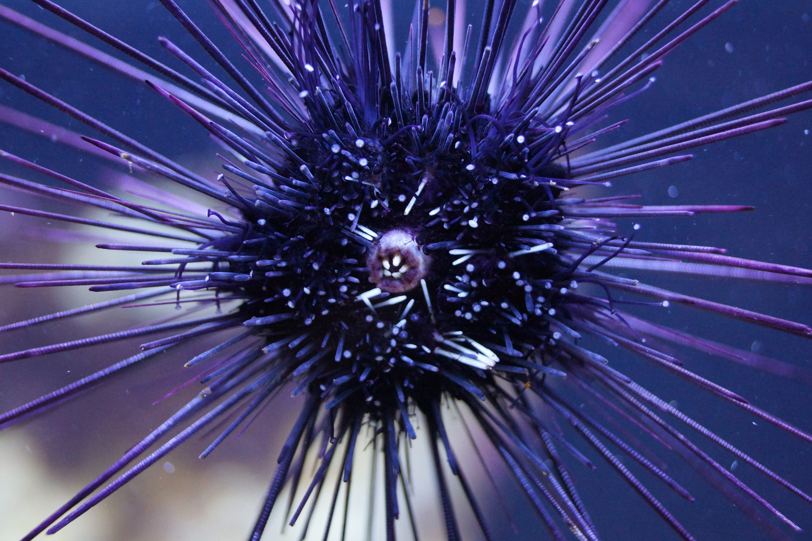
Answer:
<svg viewBox="0 0 812 541"><path fill-rule="evenodd" d="M521 34L526 49L521 45L509 49L506 45L508 19L514 3L505 2L493 12L494 19L490 21L493 28L490 23L484 24L478 47L475 35L465 41L471 51L469 63L473 63L473 71L462 70L461 73L473 74L468 75L468 80L465 75L462 79L452 75L457 62L456 54L452 53L453 2L447 9L446 40L439 48L447 51L446 57L433 60L427 54L429 15L425 4L418 10L414 26L412 44L417 45L412 46L404 62L398 57L394 62L389 60L382 34L382 12L376 3L359 6L346 19L352 21L353 26L342 27L346 32L336 27L337 33L323 22L315 4L305 3L304 9L287 19L293 21L293 29L288 32L287 28L280 30L266 24L264 15L253 2L223 3L218 9L242 37L249 57L266 77L265 82L270 86L268 97L235 71L231 62L218 53L183 12L171 2L166 4L243 87L245 96L253 99L249 101L227 88L170 41L162 42L203 79L205 86L194 90L220 107L213 111L210 104L201 105L198 101L196 108L192 100L178 97L179 92L153 82L158 92L201 122L231 152L225 159L227 173L218 178L222 185L184 170L98 122L95 127L117 142L116 145L134 150L119 150L118 146L102 141L92 142L136 168L171 178L217 200L217 208L208 216L211 219L191 215L183 203L174 210L150 208L149 204L132 203L67 178L58 179L71 182L85 194L40 187L9 175L3 177L6 183L27 191L38 191L69 202L95 204L133 220L147 221L147 227L137 228L141 233L184 243L181 246L164 243L137 246L106 243L102 246L112 250L172 252L166 258L145 262L158 268L172 265L170 272L63 265L55 270L101 272L106 276L29 278L21 285L92 283L93 290L170 286L174 288L170 294L177 295L179 302L196 300L217 304L223 309L222 313L213 311L197 319L181 314L179 320L169 323L14 352L4 355L2 360L195 327L145 343L142 346L145 353L127 361L136 363L168 346L188 343L201 335L229 332L229 328L233 334L188 362L190 366L211 365L203 378L208 387L201 397L136 445L125 459L63 511L101 487L106 479L158 438L167 435L185 417L198 411L203 416L145 462L98 495L91 496L68 520L218 415L235 409L239 416L213 446L218 444L288 383L296 388L294 393L303 393L308 398L280 455L279 470L270 487L266 508L257 522L255 537L265 526L270 507L283 484L296 485L300 481L310 447L321 446L323 458L313 483L301 490L305 495L303 505L306 496L315 491L313 497L316 497L322 482L328 479L326 486L335 487L331 509L336 509L342 485L334 479L335 475L327 477L330 461L335 455L336 462L343 465L342 477L348 481L356 441L363 441L363 436L358 440L362 423L375 428L377 435L373 440L382 448L387 537L394 536L399 502L403 506L405 501L410 509L409 492L401 488L405 484L399 483L405 482L401 471L407 449L403 436L416 436L413 426L416 419L429 432L426 438L432 443L449 536L458 535L459 526L454 519L448 479L443 474L442 453L451 464L451 472L459 476L464 498L477 520L481 520L477 495L457 467L452 442L443 424L440 401L445 399L451 403L459 401L469 408L466 414L480 424L554 535L564 524L577 537L597 537L556 450L563 447L589 463L561 436L555 419L564 419L585 435L588 443L607 457L675 530L689 538L676 518L637 482L637 477L594 436L594 431L628 452L632 461L639 462L642 468L663 479L680 494L686 494L685 491L589 413L574 407L573 401L579 400L598 406L601 401L611 404L618 409L620 419L637 423L644 432L666 441L689 460L693 453L694 460L698 458L743 493L774 511L645 403L674 414L705 433L702 427L674 406L647 393L627 376L607 367L601 356L576 343L582 335L602 337L762 419L798 436L809 437L749 406L735 393L683 369L676 357L663 351L663 347L651 344L671 341L731 359L741 358L740 352L647 324L618 311L615 308L618 301L611 300L617 297L618 291L645 294L654 297L656 304L686 303L806 336L809 329L804 325L641 286L637 281L606 272L612 266L670 271L706 265L702 271L715 275L804 281L809 272L803 269L734 260L713 248L635 242L632 238L615 235L614 225L607 222L607 218L614 217L692 216L745 207L645 207L624 203L620 197L586 199L565 193L585 183L607 182L607 178L613 176L682 161L686 157L647 160L771 127L781 122L780 116L809 106L801 102L787 109L720 123L731 114L741 116L759 105L791 97L808 86L802 85L723 114L707 115L693 124L659 132L647 139L574 157L579 147L589 148L585 145L616 127L615 124L598 127L597 122L603 121L601 117L611 105L628 98L623 96L623 91L631 88L637 92L639 89L632 85L644 82L650 72L659 67L661 57L672 45L715 18L722 8L701 19L668 45L658 48L654 46L656 42L646 43L649 47L634 51L628 61L616 66L610 62L609 65L615 67L598 76L600 73L594 70L603 58L610 57L611 51L604 49L601 55L590 57L593 51L600 49L589 37L595 32L590 26L598 20L603 2L585 3L572 14L561 12L552 19L553 22L564 19L568 22L566 27L534 24L535 18L529 19L526 32ZM659 6L654 7L653 15ZM284 8L282 11L282 20L286 20L284 15L291 14ZM620 36L627 32L633 36L633 25L638 19L629 19L628 14L626 17L615 14L607 28L624 28L627 24ZM645 17L640 20L646 22ZM607 28L599 28L598 33L607 32ZM545 36L552 38L545 39ZM266 47L262 46L263 41ZM341 52L342 43L352 51L351 55ZM653 54L638 61L647 50ZM503 88L491 84L492 75L500 65L499 58L502 58L503 73L510 73L512 68L514 74L512 81L506 79ZM511 59L515 62L510 63ZM279 62L274 63L275 60ZM394 69L389 67L390 62ZM459 62L465 65L465 57ZM438 77L429 69L433 63ZM402 66L408 69L401 69ZM274 75L277 70L292 75L289 84L293 89L285 79ZM575 76L579 71L590 75ZM178 81L177 75L162 73ZM67 109L67 104L55 101L25 81L7 73L5 78ZM78 111L68 109L68 112L80 116ZM234 131L237 128L209 118L218 114L246 133L238 134ZM585 135L585 130L594 132ZM19 158L6 157L24 163ZM637 161L645 163L631 165ZM37 165L24 165L51 174ZM603 173L604 170L612 171ZM171 201L169 196L163 199L164 203ZM12 205L4 205L4 208L50 219L106 225L119 230L135 229L132 225L103 224L84 217L43 213ZM172 230L162 229L166 225ZM395 236L404 237L407 230L410 240ZM390 286L381 287L388 277L382 276L375 282L373 264L380 260L382 267L383 261L397 266L394 259L398 247L408 251L413 260L430 256L431 264L428 268L426 264L410 264L411 270L420 268L424 273L414 277L412 286L406 287L405 280L400 280L403 285L390 282ZM425 251L426 255L417 250ZM374 260L370 263L372 254L375 254ZM378 254L384 257L379 258ZM50 268L43 264L7 266ZM370 279L377 288L369 286ZM604 289L584 291L584 286L590 284ZM188 291L195 290L216 295L184 298ZM606 296L602 295L603 290ZM166 294L164 290L155 291L156 296ZM148 290L144 295L151 294ZM130 296L123 299L127 300L122 303L135 300ZM628 303L628 299L623 302ZM101 308L90 307L84 311ZM24 322L17 327L33 323ZM647 341L644 342L644 338ZM231 353L228 348L234 346L243 349L228 355ZM117 365L115 370L118 369ZM105 371L79 386L61 389L2 419L10 422L76 393L83 385L109 373ZM564 374L566 380L555 380ZM235 394L229 394L232 389L236 390ZM589 400L590 396L593 401ZM484 404L478 401L480 398L485 400ZM326 412L317 407L321 405L326 406ZM594 410L601 409L594 406ZM706 435L731 449L718 437ZM206 449L204 454L210 450ZM741 460L764 470L743 453L733 452ZM769 470L767 473L780 483L788 484ZM329 498L330 492L326 491L328 496L324 497ZM302 509L300 506L294 513L294 520ZM53 517L52 522L57 518ZM482 529L487 531L484 521Z"/></svg>

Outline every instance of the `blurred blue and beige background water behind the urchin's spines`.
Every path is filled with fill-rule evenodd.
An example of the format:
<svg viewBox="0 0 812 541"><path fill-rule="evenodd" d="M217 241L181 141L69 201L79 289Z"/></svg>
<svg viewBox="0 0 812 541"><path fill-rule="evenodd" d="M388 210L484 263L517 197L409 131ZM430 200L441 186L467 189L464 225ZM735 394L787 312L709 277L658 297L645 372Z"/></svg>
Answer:
<svg viewBox="0 0 812 541"><path fill-rule="evenodd" d="M395 0L395 4L398 2L400 0ZM112 49L32 2L2 0L0 3L120 58ZM77 15L173 67L177 67L177 62L172 62L158 45L157 36L170 36L196 58L202 57L192 37L158 2L65 0L62 3ZM178 3L195 16L205 32L240 65L240 49L220 28L209 6L200 1ZM409 6L406 15L395 17L398 26L395 43L399 46L405 38L403 21L411 14L412 3L406 3ZM445 6L445 2L436 3ZM518 2L517 17L529 3L529 0ZM673 0L663 16L684 11L690 3L693 2ZM715 6L719 2L711 3ZM482 17L480 2L468 0L467 4L469 21L477 28L477 19ZM29 82L183 165L205 171L207 176L214 175L211 170L218 167L214 157L218 148L209 142L205 132L144 84L134 84L131 79L110 73L2 20L0 67L25 75ZM655 75L658 80L648 91L611 111L608 122L631 119L621 128L623 133L607 135L598 144L609 145L621 137L644 135L812 78L812 2L742 0L668 55L665 65ZM25 111L80 134L93 135L88 127L41 105L8 84L0 84L0 106ZM646 204L654 205L752 204L756 210L749 213L648 219L637 232L636 240L725 247L728 255L810 268L810 134L812 112L806 111L788 118L784 126L696 148L693 150L695 158L685 164L620 178L605 195L641 194ZM116 174L126 172L106 159L54 144L4 123L0 123L0 148L100 186L114 182ZM0 164L0 169L9 174L26 175L7 162ZM8 194L18 198L15 204L24 202L27 197L11 191L3 191L2 197ZM46 203L45 208L54 209L48 205L50 203ZM41 222L6 213L0 215L0 261L57 263L95 256L88 250L99 241L90 238L87 230L63 235L58 225ZM45 227L34 230L32 225L35 224ZM54 229L50 229L51 226ZM621 229L630 232L632 222ZM810 286L687 275L654 277L645 272L636 273L634 277L771 316L804 324L812 322ZM102 300L102 294L91 294L80 288L20 290L7 284L0 287L3 288L0 324L79 306L91 299L92 302ZM810 340L687 307L637 308L639 310L630 311L656 323L812 370ZM68 337L88 336L96 331L106 332L108 328L120 328L120 321L126 322L127 318L132 318L135 324L145 317L144 313L136 315L119 309L81 320L66 320L59 325L5 333L0 337L0 353ZM111 323L107 321L111 316L122 319ZM83 325L89 327L83 329ZM2 364L0 410L19 406L98 367L123 359L137 343L129 341L123 345L97 346ZM594 347L620 371L664 399L676 401L686 414L701 420L791 483L806 491L812 490L812 446L809 444L766 423L754 423L743 411L649 367L631 354L607 350L606 346L597 344ZM802 430L812 432L812 387L695 352L685 353L682 359L689 369L723 384ZM122 374L109 384L36 419L0 432L0 541L19 539L184 403L188 394L179 393L153 406L153 402L188 378L182 367L184 360L182 351L166 354L156 363ZM282 397L239 440L227 442L205 461L197 460L205 441L193 439L171 453L167 457L169 462L147 470L97 509L54 535L54 541L244 539L266 490L283 435L292 423L292 412L297 409L286 406ZM592 456L591 449L584 445L579 447ZM702 447L719 462L733 466L732 455L704 442ZM655 487L654 492L698 539L767 539L762 530L703 483L678 457L664 451L660 455L667 459L668 473L697 501L685 502L660 487ZM594 472L578 466L572 470L604 539L676 539L667 524L604 462L596 459L595 463L598 470ZM809 505L749 466L737 464L735 473L804 528L801 535L788 533L788 539L812 539ZM482 483L482 487L487 487L485 481ZM501 534L498 539L538 539L538 519L526 504L525 496L518 489L513 494L515 501L508 500L508 506L519 533L512 534L495 501L488 509L492 530ZM487 505L487 500L483 500L483 504ZM425 507L430 509L431 502L426 502ZM266 539L274 538L276 531L271 526ZM430 531L421 533L422 539L436 537ZM349 539L365 538L351 536ZM470 539L478 538L473 535Z"/></svg>

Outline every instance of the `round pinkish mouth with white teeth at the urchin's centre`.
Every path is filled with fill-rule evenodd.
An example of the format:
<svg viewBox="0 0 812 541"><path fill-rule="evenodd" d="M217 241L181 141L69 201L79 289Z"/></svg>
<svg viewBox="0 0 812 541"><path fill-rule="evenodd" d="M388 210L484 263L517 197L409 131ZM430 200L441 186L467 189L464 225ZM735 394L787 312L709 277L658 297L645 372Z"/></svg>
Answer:
<svg viewBox="0 0 812 541"><path fill-rule="evenodd" d="M375 243L367 257L369 281L382 291L404 293L412 290L429 273L431 258L408 230L390 230Z"/></svg>

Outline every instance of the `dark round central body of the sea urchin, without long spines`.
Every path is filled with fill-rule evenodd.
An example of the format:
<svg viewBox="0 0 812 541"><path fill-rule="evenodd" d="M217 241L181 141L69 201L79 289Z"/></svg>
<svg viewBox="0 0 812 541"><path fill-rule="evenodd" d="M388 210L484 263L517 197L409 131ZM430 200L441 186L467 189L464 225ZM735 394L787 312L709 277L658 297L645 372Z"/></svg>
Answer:
<svg viewBox="0 0 812 541"><path fill-rule="evenodd" d="M399 104L403 126L384 116L373 131L291 137L304 163L288 162L296 176L254 185L247 219L256 223L241 240L245 262L232 269L261 284L254 294L264 298L247 303L244 310L256 313L246 324L291 337L301 326L307 335L311 347L296 353L294 375L309 371L312 389L324 396L362 395L365 413L375 417L381 404L405 408L413 395L440 400L450 388L437 383L438 374L467 378L457 367L494 367L498 356L478 341L471 346L474 336L508 335L510 343L513 333L536 344L536 359L549 357L544 317L555 314L565 286L577 284L550 242L564 229L554 208L564 170L546 166L555 179L522 172L529 148L554 147L563 130L503 119L500 127L516 129L516 140L483 141L474 157L468 113L443 94L425 112L417 101ZM532 334L501 328L506 318L529 324ZM424 385L426 378L434 383ZM408 424L405 410L401 419Z"/></svg>

